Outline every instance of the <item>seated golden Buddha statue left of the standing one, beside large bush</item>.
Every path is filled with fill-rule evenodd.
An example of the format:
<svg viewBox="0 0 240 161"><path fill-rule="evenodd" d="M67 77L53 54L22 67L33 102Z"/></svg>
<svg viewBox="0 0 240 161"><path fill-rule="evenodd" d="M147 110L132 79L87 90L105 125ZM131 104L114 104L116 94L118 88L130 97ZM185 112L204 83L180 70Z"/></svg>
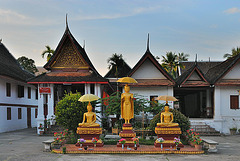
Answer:
<svg viewBox="0 0 240 161"><path fill-rule="evenodd" d="M83 122L79 123L78 126L79 127L96 127L96 126L100 126L98 123L96 122L96 114L94 112L92 112L92 105L89 102L87 105L87 110L88 112L85 112L83 114ZM85 120L87 119L87 121L85 122Z"/></svg>

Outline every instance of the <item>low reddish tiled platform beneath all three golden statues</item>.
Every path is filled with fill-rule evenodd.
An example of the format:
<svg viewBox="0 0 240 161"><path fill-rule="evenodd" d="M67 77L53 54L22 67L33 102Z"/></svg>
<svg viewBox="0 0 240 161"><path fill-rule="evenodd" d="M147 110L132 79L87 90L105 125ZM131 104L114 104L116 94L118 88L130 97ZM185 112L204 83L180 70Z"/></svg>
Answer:
<svg viewBox="0 0 240 161"><path fill-rule="evenodd" d="M194 147L185 145L184 148L180 150L175 150L171 148L161 148L154 147L154 145L140 145L137 150L131 148L128 150L126 147L122 149L116 145L104 145L103 147L88 147L87 150L79 150L73 144L65 144L62 147L66 147L67 154L203 154L204 151L198 151ZM62 147L60 149L53 149L54 153L63 153Z"/></svg>

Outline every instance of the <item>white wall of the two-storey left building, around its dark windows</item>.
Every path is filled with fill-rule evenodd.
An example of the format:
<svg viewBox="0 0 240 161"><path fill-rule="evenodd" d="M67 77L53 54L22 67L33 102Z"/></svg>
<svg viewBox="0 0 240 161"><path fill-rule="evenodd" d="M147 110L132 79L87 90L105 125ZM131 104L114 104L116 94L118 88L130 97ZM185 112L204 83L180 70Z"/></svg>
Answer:
<svg viewBox="0 0 240 161"><path fill-rule="evenodd" d="M11 96L6 96L6 83L11 83ZM17 86L24 86L24 97L18 98ZM28 88L31 87L31 99L28 99ZM14 105L37 105L35 87L24 82L0 76L0 132L27 128L27 107ZM8 105L9 104L9 105ZM7 120L7 108L11 108L11 120ZM22 109L22 119L18 119L18 108ZM31 126L36 127L35 107L31 108Z"/></svg>

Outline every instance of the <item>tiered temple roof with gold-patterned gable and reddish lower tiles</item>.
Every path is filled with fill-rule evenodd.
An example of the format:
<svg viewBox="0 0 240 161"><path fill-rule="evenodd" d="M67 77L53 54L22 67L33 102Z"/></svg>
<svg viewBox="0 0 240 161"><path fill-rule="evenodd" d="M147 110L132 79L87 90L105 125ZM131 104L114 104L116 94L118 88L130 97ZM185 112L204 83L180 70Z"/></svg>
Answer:
<svg viewBox="0 0 240 161"><path fill-rule="evenodd" d="M85 49L73 37L68 25L53 56L44 68L50 72L31 79L29 83L108 83L108 80L94 68Z"/></svg>

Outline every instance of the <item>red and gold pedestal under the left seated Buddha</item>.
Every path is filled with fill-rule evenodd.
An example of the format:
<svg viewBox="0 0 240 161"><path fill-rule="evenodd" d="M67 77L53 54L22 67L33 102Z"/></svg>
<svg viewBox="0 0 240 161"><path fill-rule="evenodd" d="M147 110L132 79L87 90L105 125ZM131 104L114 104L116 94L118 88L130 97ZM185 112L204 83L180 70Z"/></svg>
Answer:
<svg viewBox="0 0 240 161"><path fill-rule="evenodd" d="M98 142L96 144L97 147L103 147L103 142L99 139L99 136L102 134L102 128L99 126L96 127L78 127L77 134L80 135L80 138L86 140L83 143L83 146L94 146L92 143L92 138L97 138Z"/></svg>

